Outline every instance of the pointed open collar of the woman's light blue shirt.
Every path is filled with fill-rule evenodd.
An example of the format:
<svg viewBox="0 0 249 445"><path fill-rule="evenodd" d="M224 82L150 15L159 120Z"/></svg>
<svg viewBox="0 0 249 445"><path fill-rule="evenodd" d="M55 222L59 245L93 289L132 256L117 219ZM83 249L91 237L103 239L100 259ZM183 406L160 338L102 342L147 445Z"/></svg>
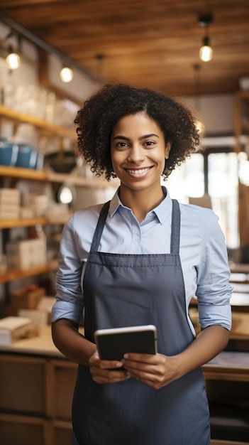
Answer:
<svg viewBox="0 0 249 445"><path fill-rule="evenodd" d="M118 190L119 190L119 188L118 188ZM116 211L119 208L127 209L127 207L125 207L121 203L121 200L118 196L118 190L114 194L114 197L111 199L110 208L109 208L110 218L112 218L114 216L114 214L116 213ZM168 220L168 218L170 217L171 212L172 212L172 199L170 198L170 193L165 186L162 186L162 191L165 195L164 200L162 200L162 203L157 205L156 208L151 210L151 212L153 212L155 214L155 216L157 217L160 224L165 223L165 221Z"/></svg>

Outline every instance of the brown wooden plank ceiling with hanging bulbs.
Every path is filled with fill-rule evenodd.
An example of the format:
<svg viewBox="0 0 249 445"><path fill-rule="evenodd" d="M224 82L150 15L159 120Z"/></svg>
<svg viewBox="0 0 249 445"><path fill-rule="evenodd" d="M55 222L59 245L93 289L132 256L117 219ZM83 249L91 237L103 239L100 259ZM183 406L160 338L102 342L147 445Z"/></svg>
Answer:
<svg viewBox="0 0 249 445"><path fill-rule="evenodd" d="M198 92L216 94L249 75L249 0L0 0L1 13L104 82L192 95L198 72ZM203 63L198 17L210 13Z"/></svg>

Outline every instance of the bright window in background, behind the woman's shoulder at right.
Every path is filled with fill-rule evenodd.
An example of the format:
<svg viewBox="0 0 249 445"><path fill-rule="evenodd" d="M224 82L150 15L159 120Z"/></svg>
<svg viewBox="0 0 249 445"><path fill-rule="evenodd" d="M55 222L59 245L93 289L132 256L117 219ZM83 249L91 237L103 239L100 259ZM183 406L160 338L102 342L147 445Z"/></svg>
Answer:
<svg viewBox="0 0 249 445"><path fill-rule="evenodd" d="M170 196L182 203L209 195L227 247L236 249L239 246L238 155L234 151L219 147L207 148L204 153L194 153L172 172L166 184ZM198 203L198 200L195 202Z"/></svg>

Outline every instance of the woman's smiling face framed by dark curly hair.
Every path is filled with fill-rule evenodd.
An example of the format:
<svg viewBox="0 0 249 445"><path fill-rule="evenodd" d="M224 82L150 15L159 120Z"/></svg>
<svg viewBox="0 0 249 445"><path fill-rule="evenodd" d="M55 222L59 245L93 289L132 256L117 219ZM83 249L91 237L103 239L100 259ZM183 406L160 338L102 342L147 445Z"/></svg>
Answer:
<svg viewBox="0 0 249 445"><path fill-rule="evenodd" d="M160 177L170 143L145 112L128 114L118 121L111 134L111 161L121 188L132 191L160 191Z"/></svg>

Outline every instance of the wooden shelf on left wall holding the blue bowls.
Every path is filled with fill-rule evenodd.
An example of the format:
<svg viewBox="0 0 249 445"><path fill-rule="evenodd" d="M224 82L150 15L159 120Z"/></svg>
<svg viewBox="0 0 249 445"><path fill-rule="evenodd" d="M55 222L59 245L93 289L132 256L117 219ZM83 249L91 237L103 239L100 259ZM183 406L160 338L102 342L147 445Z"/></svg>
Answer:
<svg viewBox="0 0 249 445"><path fill-rule="evenodd" d="M31 168L0 166L0 176L7 178L21 178L33 181L46 181L51 183L70 183L73 186L87 187L87 188L107 188L118 187L119 180L112 179L86 179L72 174L54 173L51 171L32 170Z"/></svg>

